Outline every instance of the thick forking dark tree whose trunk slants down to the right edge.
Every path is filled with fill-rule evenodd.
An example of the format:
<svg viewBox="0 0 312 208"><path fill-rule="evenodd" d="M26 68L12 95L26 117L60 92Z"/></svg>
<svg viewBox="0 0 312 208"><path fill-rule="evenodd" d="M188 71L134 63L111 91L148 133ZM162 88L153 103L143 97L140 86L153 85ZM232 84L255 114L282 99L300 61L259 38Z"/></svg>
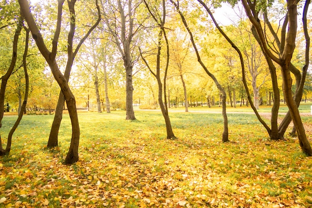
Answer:
<svg viewBox="0 0 312 208"><path fill-rule="evenodd" d="M270 32L274 34L275 41L278 41L278 55L274 55L275 50L270 47L266 40L265 31L262 28L262 25L259 21L258 13L255 7L255 4L251 4L251 2L247 2L246 0L242 0L243 6L245 8L246 14L253 24L256 34L259 37L259 42L263 48L263 52L265 55L270 57L274 62L276 62L281 67L282 79L283 79L283 92L286 104L289 108L289 114L291 119L294 122L294 126L297 130L299 144L304 153L307 155L312 155L312 149L310 143L307 139L306 131L303 126L298 105L300 104L303 86L305 82L305 78L307 75L307 70L309 66L309 50L310 50L310 37L307 29L307 12L310 4L310 0L305 2L304 12L303 12L303 25L306 37L306 56L305 56L305 66L303 67L303 73L301 74L298 69L294 67L292 64L292 57L294 54L294 50L296 48L296 36L297 36L297 14L298 14L298 1L296 0L287 0L287 11L285 16L285 21L282 27L281 39L277 37L277 34L273 32L273 28L270 26L269 19L266 18L266 7L264 9L265 13L265 22L269 25ZM255 3L260 3L256 1ZM257 4L256 4L257 5ZM288 27L288 31L286 32L286 27ZM281 41L280 41L281 40ZM293 98L292 94L292 77L291 72L296 76L296 93ZM281 124L282 125L282 124ZM287 125L288 126L288 125Z"/></svg>

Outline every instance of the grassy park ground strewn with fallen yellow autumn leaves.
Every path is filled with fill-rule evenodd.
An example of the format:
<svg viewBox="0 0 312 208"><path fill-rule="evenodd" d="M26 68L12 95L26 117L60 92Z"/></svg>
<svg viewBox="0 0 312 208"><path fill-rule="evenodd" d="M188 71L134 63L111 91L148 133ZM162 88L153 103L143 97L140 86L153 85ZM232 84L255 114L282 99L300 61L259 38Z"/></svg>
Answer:
<svg viewBox="0 0 312 208"><path fill-rule="evenodd" d="M268 140L255 116L229 116L230 143L220 142L221 115L170 115L176 140L165 139L160 113L136 116L79 115L80 158L71 166L63 164L69 119L60 147L47 150L53 117L25 117L29 131L16 132L0 159L0 207L312 207L312 158L296 138Z"/></svg>

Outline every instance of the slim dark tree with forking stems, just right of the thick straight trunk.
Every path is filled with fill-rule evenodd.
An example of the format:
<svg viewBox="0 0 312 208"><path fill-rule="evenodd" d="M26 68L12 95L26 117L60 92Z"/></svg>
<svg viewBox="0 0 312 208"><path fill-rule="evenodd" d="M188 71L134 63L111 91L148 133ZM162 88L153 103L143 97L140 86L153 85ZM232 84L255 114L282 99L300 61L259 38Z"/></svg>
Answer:
<svg viewBox="0 0 312 208"><path fill-rule="evenodd" d="M165 124L166 124L166 132L167 132L167 139L175 139L175 136L173 134L172 131L172 127L171 127L171 122L170 122L170 118L168 115L168 106L167 106L167 98L166 98L166 76L167 76L167 71L168 71L168 66L169 66L169 43L168 43L168 39L167 39L167 35L166 35L166 31L164 28L164 24L165 24L165 19L166 19L166 6L165 6L165 0L161 1L161 13L157 11L157 7L152 7L146 0L143 0L149 13L151 14L152 18L155 20L157 27L159 28L158 31L158 36L157 36L157 41L156 41L156 73L152 70L150 64L148 63L148 61L145 59L145 57L143 56L141 49L140 49L140 54L141 57L143 59L143 61L145 62L145 64L147 65L148 69L150 70L150 72L155 76L156 80L157 80L157 84L158 84L158 103L161 109L161 113L162 116L164 118ZM156 4L156 6L158 6ZM163 43L163 39L164 38L164 43ZM165 56L165 66L164 66L164 70L163 70L163 79L161 80L160 77L160 59L161 59L161 48L162 45L165 44L165 48L166 48L166 56ZM163 86L163 88L162 88ZM164 97L164 100L162 100L162 96Z"/></svg>

